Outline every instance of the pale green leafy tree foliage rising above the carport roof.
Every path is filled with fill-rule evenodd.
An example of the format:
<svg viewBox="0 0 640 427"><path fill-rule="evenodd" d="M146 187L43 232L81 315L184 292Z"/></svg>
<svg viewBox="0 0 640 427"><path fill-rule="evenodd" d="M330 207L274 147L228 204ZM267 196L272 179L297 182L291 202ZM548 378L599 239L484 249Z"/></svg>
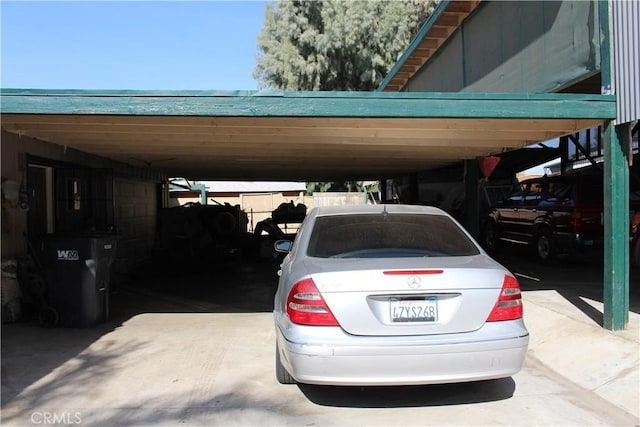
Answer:
<svg viewBox="0 0 640 427"><path fill-rule="evenodd" d="M261 87L279 90L375 90L436 3L269 3L258 37L254 77Z"/></svg>

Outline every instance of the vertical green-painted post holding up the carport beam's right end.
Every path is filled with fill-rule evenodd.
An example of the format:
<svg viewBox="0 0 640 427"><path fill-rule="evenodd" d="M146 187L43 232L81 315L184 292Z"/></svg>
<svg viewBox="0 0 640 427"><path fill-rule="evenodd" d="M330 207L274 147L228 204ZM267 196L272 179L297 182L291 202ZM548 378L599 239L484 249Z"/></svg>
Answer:
<svg viewBox="0 0 640 427"><path fill-rule="evenodd" d="M629 323L629 138L626 126L604 127L604 317L612 331Z"/></svg>

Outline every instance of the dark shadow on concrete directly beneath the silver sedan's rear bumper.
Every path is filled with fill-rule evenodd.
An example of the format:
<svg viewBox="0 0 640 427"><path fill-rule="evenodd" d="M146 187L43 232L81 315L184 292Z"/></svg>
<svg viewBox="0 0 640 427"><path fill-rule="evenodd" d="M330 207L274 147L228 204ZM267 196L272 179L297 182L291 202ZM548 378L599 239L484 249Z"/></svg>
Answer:
<svg viewBox="0 0 640 427"><path fill-rule="evenodd" d="M407 408L494 402L513 396L512 378L402 387L336 387L299 384L313 403L349 408Z"/></svg>

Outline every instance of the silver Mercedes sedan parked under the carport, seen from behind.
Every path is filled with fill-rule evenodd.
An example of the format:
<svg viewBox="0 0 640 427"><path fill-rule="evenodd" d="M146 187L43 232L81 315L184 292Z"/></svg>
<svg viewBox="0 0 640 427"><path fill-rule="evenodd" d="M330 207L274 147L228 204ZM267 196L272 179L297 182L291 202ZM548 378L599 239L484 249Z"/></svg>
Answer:
<svg viewBox="0 0 640 427"><path fill-rule="evenodd" d="M276 250L283 384L452 383L522 367L518 281L442 210L315 208Z"/></svg>

